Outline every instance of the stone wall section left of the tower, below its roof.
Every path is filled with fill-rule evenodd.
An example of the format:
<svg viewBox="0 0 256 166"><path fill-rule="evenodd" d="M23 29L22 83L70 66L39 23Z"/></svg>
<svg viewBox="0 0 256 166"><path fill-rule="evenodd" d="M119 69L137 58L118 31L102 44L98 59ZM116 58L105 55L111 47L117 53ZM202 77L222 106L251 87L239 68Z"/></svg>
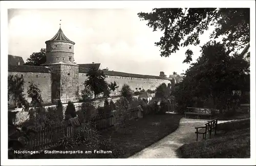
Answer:
<svg viewBox="0 0 256 166"><path fill-rule="evenodd" d="M31 81L35 82L38 85L38 88L41 91L42 100L44 103L51 103L52 98L52 80L51 73L35 73L35 72L13 72L9 71L8 75L19 75L24 78L24 94L28 102L31 101L31 98L28 98L28 87Z"/></svg>

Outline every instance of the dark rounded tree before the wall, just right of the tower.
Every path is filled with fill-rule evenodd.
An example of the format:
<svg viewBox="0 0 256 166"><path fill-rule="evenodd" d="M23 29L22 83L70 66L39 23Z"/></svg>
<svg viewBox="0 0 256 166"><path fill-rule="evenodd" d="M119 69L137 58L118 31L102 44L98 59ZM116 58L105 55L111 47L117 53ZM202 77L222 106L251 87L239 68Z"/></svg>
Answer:
<svg viewBox="0 0 256 166"><path fill-rule="evenodd" d="M87 74L88 78L84 81L84 86L94 92L94 99L96 95L104 92L108 84L105 81L105 75L102 70L92 68Z"/></svg>

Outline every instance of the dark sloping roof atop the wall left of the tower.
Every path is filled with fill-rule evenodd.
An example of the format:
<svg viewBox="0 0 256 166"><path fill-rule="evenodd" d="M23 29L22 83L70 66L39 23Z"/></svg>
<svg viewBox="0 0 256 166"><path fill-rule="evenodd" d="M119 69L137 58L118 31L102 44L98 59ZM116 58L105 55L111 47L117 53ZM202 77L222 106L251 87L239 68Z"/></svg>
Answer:
<svg viewBox="0 0 256 166"><path fill-rule="evenodd" d="M29 65L8 65L8 71L16 72L34 72L34 73L51 73L51 69L45 66L29 66Z"/></svg>

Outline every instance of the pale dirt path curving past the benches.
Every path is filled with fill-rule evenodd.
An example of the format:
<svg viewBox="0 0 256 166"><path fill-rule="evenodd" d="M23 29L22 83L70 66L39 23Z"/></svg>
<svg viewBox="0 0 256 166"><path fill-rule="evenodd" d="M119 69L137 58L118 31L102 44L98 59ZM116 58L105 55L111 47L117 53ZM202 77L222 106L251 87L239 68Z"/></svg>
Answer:
<svg viewBox="0 0 256 166"><path fill-rule="evenodd" d="M176 150L185 143L195 142L195 127L202 126L206 122L207 120L182 118L180 126L175 132L129 158L179 158ZM218 123L224 122L228 121L218 121ZM199 140L202 139L200 136Z"/></svg>

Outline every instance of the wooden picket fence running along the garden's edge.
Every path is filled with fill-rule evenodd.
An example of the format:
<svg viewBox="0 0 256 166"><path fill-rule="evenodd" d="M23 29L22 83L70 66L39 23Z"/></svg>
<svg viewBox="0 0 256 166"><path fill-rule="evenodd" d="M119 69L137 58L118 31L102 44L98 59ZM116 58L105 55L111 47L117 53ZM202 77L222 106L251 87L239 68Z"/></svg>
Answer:
<svg viewBox="0 0 256 166"><path fill-rule="evenodd" d="M143 105L142 115L148 115L152 113L153 109L151 105ZM140 111L138 107L130 109L131 119L139 118ZM75 132L84 131L86 127L95 126L98 130L108 129L115 125L116 116L111 115L97 115L93 117L80 117L80 126L72 127L69 121L50 124L47 126L40 126L35 128L37 133L30 136L30 140L25 142L24 150L43 150L57 146L58 140L61 137L71 137Z"/></svg>

